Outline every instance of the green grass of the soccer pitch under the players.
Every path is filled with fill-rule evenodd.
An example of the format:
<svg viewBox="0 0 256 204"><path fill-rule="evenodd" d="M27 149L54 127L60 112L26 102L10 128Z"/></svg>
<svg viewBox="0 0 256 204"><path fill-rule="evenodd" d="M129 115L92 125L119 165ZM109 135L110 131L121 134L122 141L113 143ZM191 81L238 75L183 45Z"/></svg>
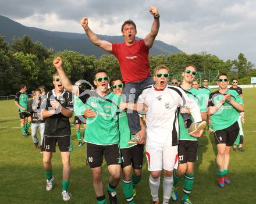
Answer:
<svg viewBox="0 0 256 204"><path fill-rule="evenodd" d="M190 199L193 203L254 203L256 200L256 88L244 88L246 124L244 129L245 152L230 152L229 178L231 184L219 188L216 175L216 145L213 134L205 131L199 141L198 161L195 163L195 184ZM31 137L23 138L19 128L19 114L14 101L0 101L0 203L64 203L61 196L62 163L58 147L52 158L55 186L45 191L46 178L42 168L42 154L34 149ZM70 121L73 121L73 119ZM72 124L74 151L71 154L71 177L69 203L97 203L93 190L91 171L86 166L85 145L77 147L76 133ZM31 132L31 131L30 131ZM105 195L108 182L107 166L102 165ZM144 159L143 179L137 185L136 203L149 203L151 199L148 185L147 164ZM122 180L121 180L122 181ZM122 192L122 182L117 192L119 203L126 203ZM181 202L183 181L177 187ZM162 201L162 179L159 188ZM161 203L161 202L159 202ZM169 203L175 203L170 201Z"/></svg>

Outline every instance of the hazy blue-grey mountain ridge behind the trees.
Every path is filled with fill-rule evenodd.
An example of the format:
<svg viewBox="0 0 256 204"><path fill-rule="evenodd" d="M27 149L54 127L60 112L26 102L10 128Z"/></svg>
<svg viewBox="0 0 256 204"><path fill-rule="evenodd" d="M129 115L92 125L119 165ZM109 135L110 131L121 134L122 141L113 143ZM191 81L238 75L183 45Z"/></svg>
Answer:
<svg viewBox="0 0 256 204"><path fill-rule="evenodd" d="M98 48L98 46L95 46L88 39L86 34L48 31L41 28L27 27L8 17L0 15L0 35L5 36L6 42L11 44L14 37L23 37L24 34L27 34L32 41L41 42L42 45L47 48L53 48L54 51L68 49L70 51L83 53L84 55L95 55L98 58L102 54L108 53L101 48ZM109 42L123 42L123 37L121 35L98 35L98 37ZM159 40L155 40L154 46L150 49L151 55L168 55L169 53L177 52L180 52L180 49Z"/></svg>

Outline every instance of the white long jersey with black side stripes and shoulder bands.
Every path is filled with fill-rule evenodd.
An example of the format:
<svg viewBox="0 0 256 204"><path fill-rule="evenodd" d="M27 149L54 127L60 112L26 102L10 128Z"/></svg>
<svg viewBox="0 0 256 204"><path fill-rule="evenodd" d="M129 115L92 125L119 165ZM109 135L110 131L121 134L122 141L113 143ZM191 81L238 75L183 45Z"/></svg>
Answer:
<svg viewBox="0 0 256 204"><path fill-rule="evenodd" d="M175 146L178 144L179 123L177 114L180 106L190 109L195 121L201 121L200 108L179 87L167 85L157 90L154 85L144 88L138 103L148 106L146 115L146 145Z"/></svg>

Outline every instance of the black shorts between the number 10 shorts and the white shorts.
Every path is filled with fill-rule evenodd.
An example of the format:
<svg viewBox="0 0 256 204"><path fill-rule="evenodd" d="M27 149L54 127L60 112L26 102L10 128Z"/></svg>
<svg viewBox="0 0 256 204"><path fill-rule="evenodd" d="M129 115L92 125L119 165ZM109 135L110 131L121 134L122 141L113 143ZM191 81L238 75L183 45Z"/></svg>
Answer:
<svg viewBox="0 0 256 204"><path fill-rule="evenodd" d="M130 148L122 148L120 151L122 157L122 168L132 164L133 169L142 169L144 145L135 145Z"/></svg>

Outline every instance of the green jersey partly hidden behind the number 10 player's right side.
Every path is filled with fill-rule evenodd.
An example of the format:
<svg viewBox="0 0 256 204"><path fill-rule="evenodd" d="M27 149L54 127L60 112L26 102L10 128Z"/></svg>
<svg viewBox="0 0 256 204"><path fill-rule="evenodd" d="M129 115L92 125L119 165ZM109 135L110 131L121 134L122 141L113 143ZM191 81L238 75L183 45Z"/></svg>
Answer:
<svg viewBox="0 0 256 204"><path fill-rule="evenodd" d="M126 112L120 112L119 113L119 132L120 132L120 141L119 141L119 147L122 148L130 148L131 146L134 146L136 144L130 145L128 144L128 141L132 138L134 138L135 135L131 135L129 124L128 124L128 117Z"/></svg>

